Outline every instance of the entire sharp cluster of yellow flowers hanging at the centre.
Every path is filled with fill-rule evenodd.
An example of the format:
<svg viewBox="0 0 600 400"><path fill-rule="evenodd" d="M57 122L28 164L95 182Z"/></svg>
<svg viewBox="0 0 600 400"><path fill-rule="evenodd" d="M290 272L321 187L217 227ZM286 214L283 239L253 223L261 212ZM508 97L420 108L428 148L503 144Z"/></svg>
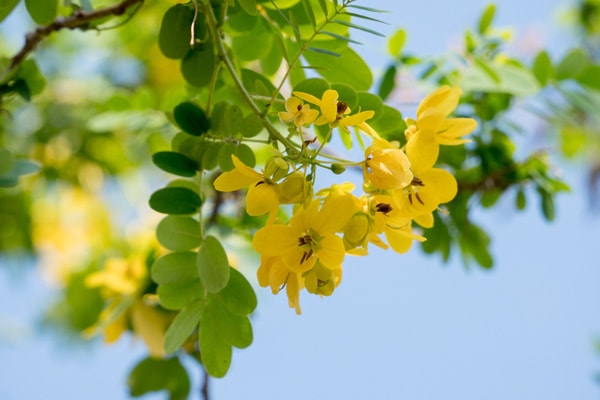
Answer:
<svg viewBox="0 0 600 400"><path fill-rule="evenodd" d="M348 162L361 165L365 193L357 197L352 194L353 184L342 183L313 195L314 176L306 171L314 157L307 161L298 155L278 155L259 173L233 156L235 168L221 174L214 186L219 191L249 186L248 214L270 215L253 238L261 255L259 284L275 294L285 287L290 307L300 314L300 291L331 295L341 281L346 254L366 255L370 243L404 253L414 240L425 240L412 232L413 221L432 227L432 212L457 193L454 176L434 168L439 146L465 143L468 140L462 137L476 128L473 119L448 117L460 94L459 88L444 86L427 96L416 120L407 119L407 143L400 148L367 124L373 111L352 114L337 91L326 90L320 99L294 92L279 117L293 123L299 134L305 125L329 124L330 131L337 127L348 132L355 127L372 139L364 160ZM320 115L302 100L318 106ZM287 222L276 218L280 204L294 204Z"/></svg>

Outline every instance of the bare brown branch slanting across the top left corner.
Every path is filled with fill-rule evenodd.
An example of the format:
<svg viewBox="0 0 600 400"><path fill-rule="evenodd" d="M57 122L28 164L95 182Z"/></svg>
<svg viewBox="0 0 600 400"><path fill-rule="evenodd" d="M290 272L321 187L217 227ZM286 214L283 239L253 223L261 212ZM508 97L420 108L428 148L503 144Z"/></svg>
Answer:
<svg viewBox="0 0 600 400"><path fill-rule="evenodd" d="M48 25L38 26L35 31L29 32L25 35L25 44L23 45L21 50L17 54L15 54L13 58L10 59L8 68L4 71L3 77L6 77L10 73L10 71L14 70L17 66L19 66L25 60L27 55L33 50L35 50L37 45L51 33L65 28L81 28L83 25L96 19L112 15L123 15L130 7L136 4L141 5L143 2L144 0L123 0L118 4L94 11L77 10L70 17L57 18L54 22ZM3 80L3 78L0 80Z"/></svg>

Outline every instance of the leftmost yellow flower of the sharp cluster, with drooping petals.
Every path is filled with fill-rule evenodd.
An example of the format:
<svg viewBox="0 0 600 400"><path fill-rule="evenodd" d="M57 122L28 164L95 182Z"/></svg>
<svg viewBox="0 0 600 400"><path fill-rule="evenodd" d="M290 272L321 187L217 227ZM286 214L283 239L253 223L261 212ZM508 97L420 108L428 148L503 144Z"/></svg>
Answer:
<svg viewBox="0 0 600 400"><path fill-rule="evenodd" d="M249 215L264 215L279 207L279 195L275 183L231 155L234 169L223 172L215 179L214 186L220 192L234 192L246 186L246 211Z"/></svg>

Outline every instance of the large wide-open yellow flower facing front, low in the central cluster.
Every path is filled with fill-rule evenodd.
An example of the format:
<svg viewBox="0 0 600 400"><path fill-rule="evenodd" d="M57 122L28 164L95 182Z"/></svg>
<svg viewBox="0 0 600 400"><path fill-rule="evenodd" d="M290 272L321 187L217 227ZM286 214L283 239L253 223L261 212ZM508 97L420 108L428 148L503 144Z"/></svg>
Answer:
<svg viewBox="0 0 600 400"><path fill-rule="evenodd" d="M346 196L327 198L300 208L288 225L268 225L256 232L254 248L263 256L281 257L292 272L305 272L319 260L327 268L338 268L344 260L344 243L335 235L354 213L354 202Z"/></svg>

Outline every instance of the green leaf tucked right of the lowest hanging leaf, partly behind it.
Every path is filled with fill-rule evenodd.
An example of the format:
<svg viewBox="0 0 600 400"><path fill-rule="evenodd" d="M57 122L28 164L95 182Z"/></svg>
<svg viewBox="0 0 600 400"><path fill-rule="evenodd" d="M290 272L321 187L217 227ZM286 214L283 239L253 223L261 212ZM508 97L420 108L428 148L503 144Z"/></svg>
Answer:
<svg viewBox="0 0 600 400"><path fill-rule="evenodd" d="M252 344L252 325L247 316L229 312L218 301L209 301L206 308L207 313L214 313L215 329L225 343L240 349Z"/></svg>

